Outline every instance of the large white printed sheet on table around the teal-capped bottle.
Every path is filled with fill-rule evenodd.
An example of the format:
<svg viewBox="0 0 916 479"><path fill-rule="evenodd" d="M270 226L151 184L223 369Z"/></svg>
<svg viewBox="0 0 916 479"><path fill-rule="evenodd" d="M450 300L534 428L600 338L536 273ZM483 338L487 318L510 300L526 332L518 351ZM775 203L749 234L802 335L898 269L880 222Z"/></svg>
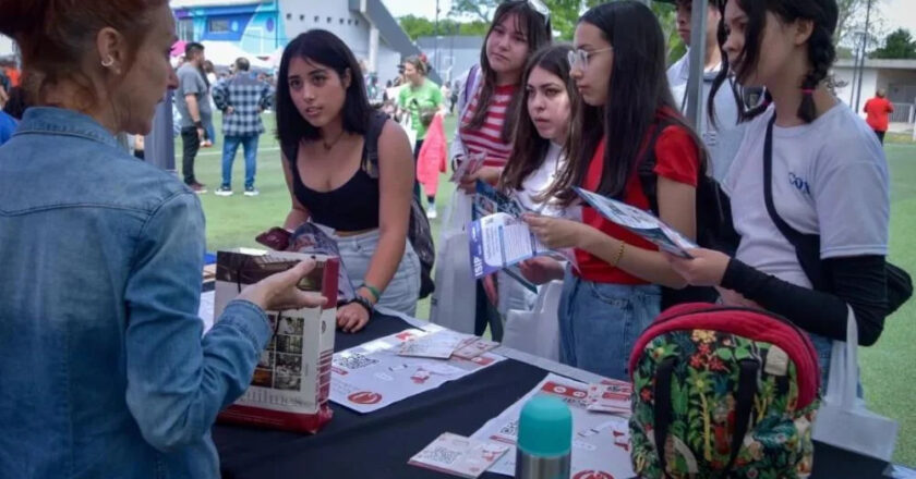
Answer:
<svg viewBox="0 0 916 479"><path fill-rule="evenodd" d="M491 472L515 475L518 418L525 403L535 394L559 397L572 413L574 478L619 479L636 476L630 462L628 420L622 416L589 412L589 384L553 373L547 374L531 392L471 434L471 439L511 446L489 469Z"/></svg>

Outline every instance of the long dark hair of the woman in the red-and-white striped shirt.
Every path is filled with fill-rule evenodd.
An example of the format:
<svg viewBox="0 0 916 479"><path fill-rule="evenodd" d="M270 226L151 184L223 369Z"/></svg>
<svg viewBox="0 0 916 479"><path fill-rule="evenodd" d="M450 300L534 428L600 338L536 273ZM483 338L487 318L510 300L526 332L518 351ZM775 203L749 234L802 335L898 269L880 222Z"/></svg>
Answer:
<svg viewBox="0 0 916 479"><path fill-rule="evenodd" d="M483 127L483 122L486 121L486 106L490 105L490 101L493 99L493 93L496 89L496 72L490 66L490 60L486 58L486 41L493 33L493 27L503 23L509 15L516 15L519 29L525 32L525 36L528 39L529 52L534 52L542 46L551 42L550 19L545 19L544 15L532 9L527 0L505 1L496 8L493 22L490 24L486 37L483 39L483 47L480 49L480 70L483 75L483 82L481 82L478 108L467 125L469 128L480 130ZM499 135L503 142L508 143L511 139L511 134L518 118L519 98L519 95L515 95L509 107L506 109L506 119L503 123L503 132Z"/></svg>

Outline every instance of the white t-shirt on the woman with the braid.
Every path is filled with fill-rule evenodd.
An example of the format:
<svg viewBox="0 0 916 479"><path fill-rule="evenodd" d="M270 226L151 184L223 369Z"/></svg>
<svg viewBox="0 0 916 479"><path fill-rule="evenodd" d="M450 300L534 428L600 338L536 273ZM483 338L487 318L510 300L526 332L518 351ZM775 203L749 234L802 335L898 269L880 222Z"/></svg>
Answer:
<svg viewBox="0 0 916 479"><path fill-rule="evenodd" d="M763 199L763 144L770 108L748 124L723 184L742 235L737 259L783 281L811 287L795 248ZM875 133L837 101L813 123L773 126L773 202L795 230L820 234L821 258L888 254L888 162Z"/></svg>

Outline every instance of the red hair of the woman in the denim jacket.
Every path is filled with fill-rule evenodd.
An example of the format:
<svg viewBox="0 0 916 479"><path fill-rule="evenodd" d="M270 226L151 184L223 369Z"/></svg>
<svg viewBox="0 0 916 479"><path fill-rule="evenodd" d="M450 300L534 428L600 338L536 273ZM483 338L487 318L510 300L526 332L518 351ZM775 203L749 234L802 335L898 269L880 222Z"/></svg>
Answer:
<svg viewBox="0 0 916 479"><path fill-rule="evenodd" d="M149 32L149 11L168 0L0 0L0 34L16 40L22 52L23 89L40 105L49 86L62 81L77 85L81 107L96 95L82 71L98 32L117 29L128 41L130 69L133 52Z"/></svg>

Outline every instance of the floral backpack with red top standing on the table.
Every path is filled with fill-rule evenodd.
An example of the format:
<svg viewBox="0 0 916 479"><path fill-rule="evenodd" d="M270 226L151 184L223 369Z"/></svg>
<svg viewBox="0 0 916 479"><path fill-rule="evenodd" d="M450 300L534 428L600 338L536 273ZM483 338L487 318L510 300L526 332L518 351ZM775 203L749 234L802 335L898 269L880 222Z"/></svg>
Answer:
<svg viewBox="0 0 916 479"><path fill-rule="evenodd" d="M644 479L807 478L817 353L764 311L685 304L634 347L634 470Z"/></svg>

